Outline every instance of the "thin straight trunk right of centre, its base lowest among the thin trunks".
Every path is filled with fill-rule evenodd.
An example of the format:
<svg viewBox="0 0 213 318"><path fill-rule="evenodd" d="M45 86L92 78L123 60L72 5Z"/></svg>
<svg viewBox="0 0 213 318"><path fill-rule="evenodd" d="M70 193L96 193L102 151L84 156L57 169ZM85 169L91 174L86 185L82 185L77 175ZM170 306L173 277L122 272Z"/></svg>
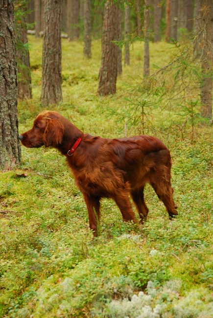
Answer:
<svg viewBox="0 0 213 318"><path fill-rule="evenodd" d="M144 58L143 76L149 76L149 0L144 2Z"/></svg>

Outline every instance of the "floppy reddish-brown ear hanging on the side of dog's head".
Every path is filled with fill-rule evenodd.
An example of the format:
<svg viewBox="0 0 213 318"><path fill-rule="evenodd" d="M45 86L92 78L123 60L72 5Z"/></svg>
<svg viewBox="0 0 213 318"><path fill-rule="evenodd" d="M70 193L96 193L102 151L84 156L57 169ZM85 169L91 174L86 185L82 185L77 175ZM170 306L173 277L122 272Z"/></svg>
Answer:
<svg viewBox="0 0 213 318"><path fill-rule="evenodd" d="M46 129L43 136L45 147L56 146L62 142L64 126L58 119L47 118Z"/></svg>

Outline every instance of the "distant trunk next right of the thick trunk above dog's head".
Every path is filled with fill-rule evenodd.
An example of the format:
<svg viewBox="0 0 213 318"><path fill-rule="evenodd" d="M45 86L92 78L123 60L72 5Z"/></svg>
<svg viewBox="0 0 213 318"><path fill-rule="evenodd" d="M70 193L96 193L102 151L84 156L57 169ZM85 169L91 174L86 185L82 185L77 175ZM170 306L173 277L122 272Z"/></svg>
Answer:
<svg viewBox="0 0 213 318"><path fill-rule="evenodd" d="M67 0L67 34L68 40L79 38L79 0Z"/></svg>

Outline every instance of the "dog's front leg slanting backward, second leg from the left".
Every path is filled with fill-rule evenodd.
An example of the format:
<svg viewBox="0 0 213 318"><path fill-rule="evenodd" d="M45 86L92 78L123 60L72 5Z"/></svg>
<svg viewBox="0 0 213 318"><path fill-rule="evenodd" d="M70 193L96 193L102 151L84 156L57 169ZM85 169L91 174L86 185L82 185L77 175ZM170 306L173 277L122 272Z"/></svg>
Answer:
<svg viewBox="0 0 213 318"><path fill-rule="evenodd" d="M122 191L122 192L121 192ZM119 210L123 216L123 221L133 221L135 220L135 213L132 210L131 203L129 200L129 193L126 189L122 189L112 196L116 204L119 207Z"/></svg>

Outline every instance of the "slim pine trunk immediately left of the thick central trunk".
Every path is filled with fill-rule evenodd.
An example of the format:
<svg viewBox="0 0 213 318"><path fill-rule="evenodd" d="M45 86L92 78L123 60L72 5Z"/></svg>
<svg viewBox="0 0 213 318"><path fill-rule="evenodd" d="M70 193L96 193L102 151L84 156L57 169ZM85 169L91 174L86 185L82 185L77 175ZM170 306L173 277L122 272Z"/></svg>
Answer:
<svg viewBox="0 0 213 318"><path fill-rule="evenodd" d="M84 56L91 59L91 0L84 0Z"/></svg>

